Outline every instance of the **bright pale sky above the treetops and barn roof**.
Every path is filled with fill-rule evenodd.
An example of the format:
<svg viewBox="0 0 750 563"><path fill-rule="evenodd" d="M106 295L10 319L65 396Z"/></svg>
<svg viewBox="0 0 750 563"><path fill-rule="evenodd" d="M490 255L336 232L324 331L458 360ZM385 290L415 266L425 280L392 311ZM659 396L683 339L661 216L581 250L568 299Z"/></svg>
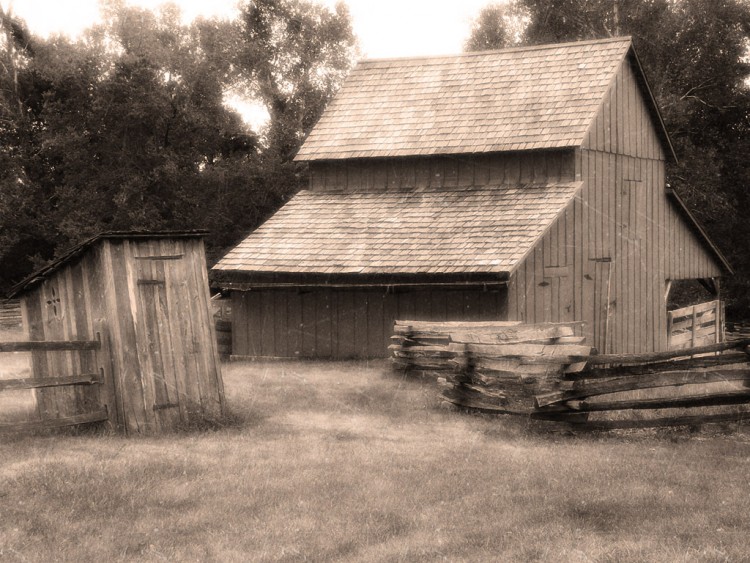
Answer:
<svg viewBox="0 0 750 563"><path fill-rule="evenodd" d="M235 0L173 0L186 20L198 15L232 17ZM333 8L336 0L318 0ZM363 57L409 57L458 53L471 20L493 0L345 0ZM155 7L161 0L126 0ZM41 35L77 35L98 18L97 0L0 0Z"/></svg>

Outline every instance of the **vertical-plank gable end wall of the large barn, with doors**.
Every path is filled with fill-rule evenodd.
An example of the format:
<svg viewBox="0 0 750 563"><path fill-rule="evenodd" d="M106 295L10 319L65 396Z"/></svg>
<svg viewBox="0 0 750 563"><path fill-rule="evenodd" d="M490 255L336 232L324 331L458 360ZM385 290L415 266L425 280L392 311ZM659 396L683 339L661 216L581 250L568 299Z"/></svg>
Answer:
<svg viewBox="0 0 750 563"><path fill-rule="evenodd" d="M665 154L627 62L574 162L584 181L580 196L544 235L541 253L512 277L509 317L586 321L584 333L601 352L666 350L666 280L709 278L721 269L665 194ZM546 297L564 278L540 279L540 266L559 274L549 268L555 261L573 272L571 297L554 289ZM540 298L549 310L527 305Z"/></svg>

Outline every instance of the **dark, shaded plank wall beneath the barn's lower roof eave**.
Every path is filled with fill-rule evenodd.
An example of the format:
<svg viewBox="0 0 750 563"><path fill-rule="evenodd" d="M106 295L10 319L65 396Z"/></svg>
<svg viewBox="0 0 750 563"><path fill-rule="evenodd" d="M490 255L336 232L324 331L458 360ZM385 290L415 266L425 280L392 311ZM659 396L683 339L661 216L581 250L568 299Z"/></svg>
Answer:
<svg viewBox="0 0 750 563"><path fill-rule="evenodd" d="M234 291L232 315L243 319L235 324L254 332L248 339L244 329L233 330L232 350L256 357L382 358L396 319L497 320L506 318L506 304L504 288ZM284 334L286 346L266 332Z"/></svg>

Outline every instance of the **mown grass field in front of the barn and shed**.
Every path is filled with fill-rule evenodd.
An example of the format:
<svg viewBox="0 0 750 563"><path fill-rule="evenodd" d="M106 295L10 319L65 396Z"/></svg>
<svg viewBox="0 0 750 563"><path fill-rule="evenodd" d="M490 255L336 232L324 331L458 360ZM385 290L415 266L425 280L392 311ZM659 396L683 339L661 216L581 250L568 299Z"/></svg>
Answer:
<svg viewBox="0 0 750 563"><path fill-rule="evenodd" d="M0 437L0 561L748 560L741 431L541 434L385 362L224 381L224 427Z"/></svg>

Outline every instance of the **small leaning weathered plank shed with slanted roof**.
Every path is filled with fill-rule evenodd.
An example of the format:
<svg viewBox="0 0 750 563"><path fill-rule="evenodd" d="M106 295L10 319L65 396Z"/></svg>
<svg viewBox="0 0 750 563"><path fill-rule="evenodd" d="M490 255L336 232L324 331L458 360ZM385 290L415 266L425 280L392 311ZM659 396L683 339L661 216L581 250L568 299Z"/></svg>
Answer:
<svg viewBox="0 0 750 563"><path fill-rule="evenodd" d="M104 233L13 290L32 341L101 342L96 357L32 352L36 379L103 377L97 386L37 389L42 420L95 405L118 428L155 433L221 414L203 234Z"/></svg>

